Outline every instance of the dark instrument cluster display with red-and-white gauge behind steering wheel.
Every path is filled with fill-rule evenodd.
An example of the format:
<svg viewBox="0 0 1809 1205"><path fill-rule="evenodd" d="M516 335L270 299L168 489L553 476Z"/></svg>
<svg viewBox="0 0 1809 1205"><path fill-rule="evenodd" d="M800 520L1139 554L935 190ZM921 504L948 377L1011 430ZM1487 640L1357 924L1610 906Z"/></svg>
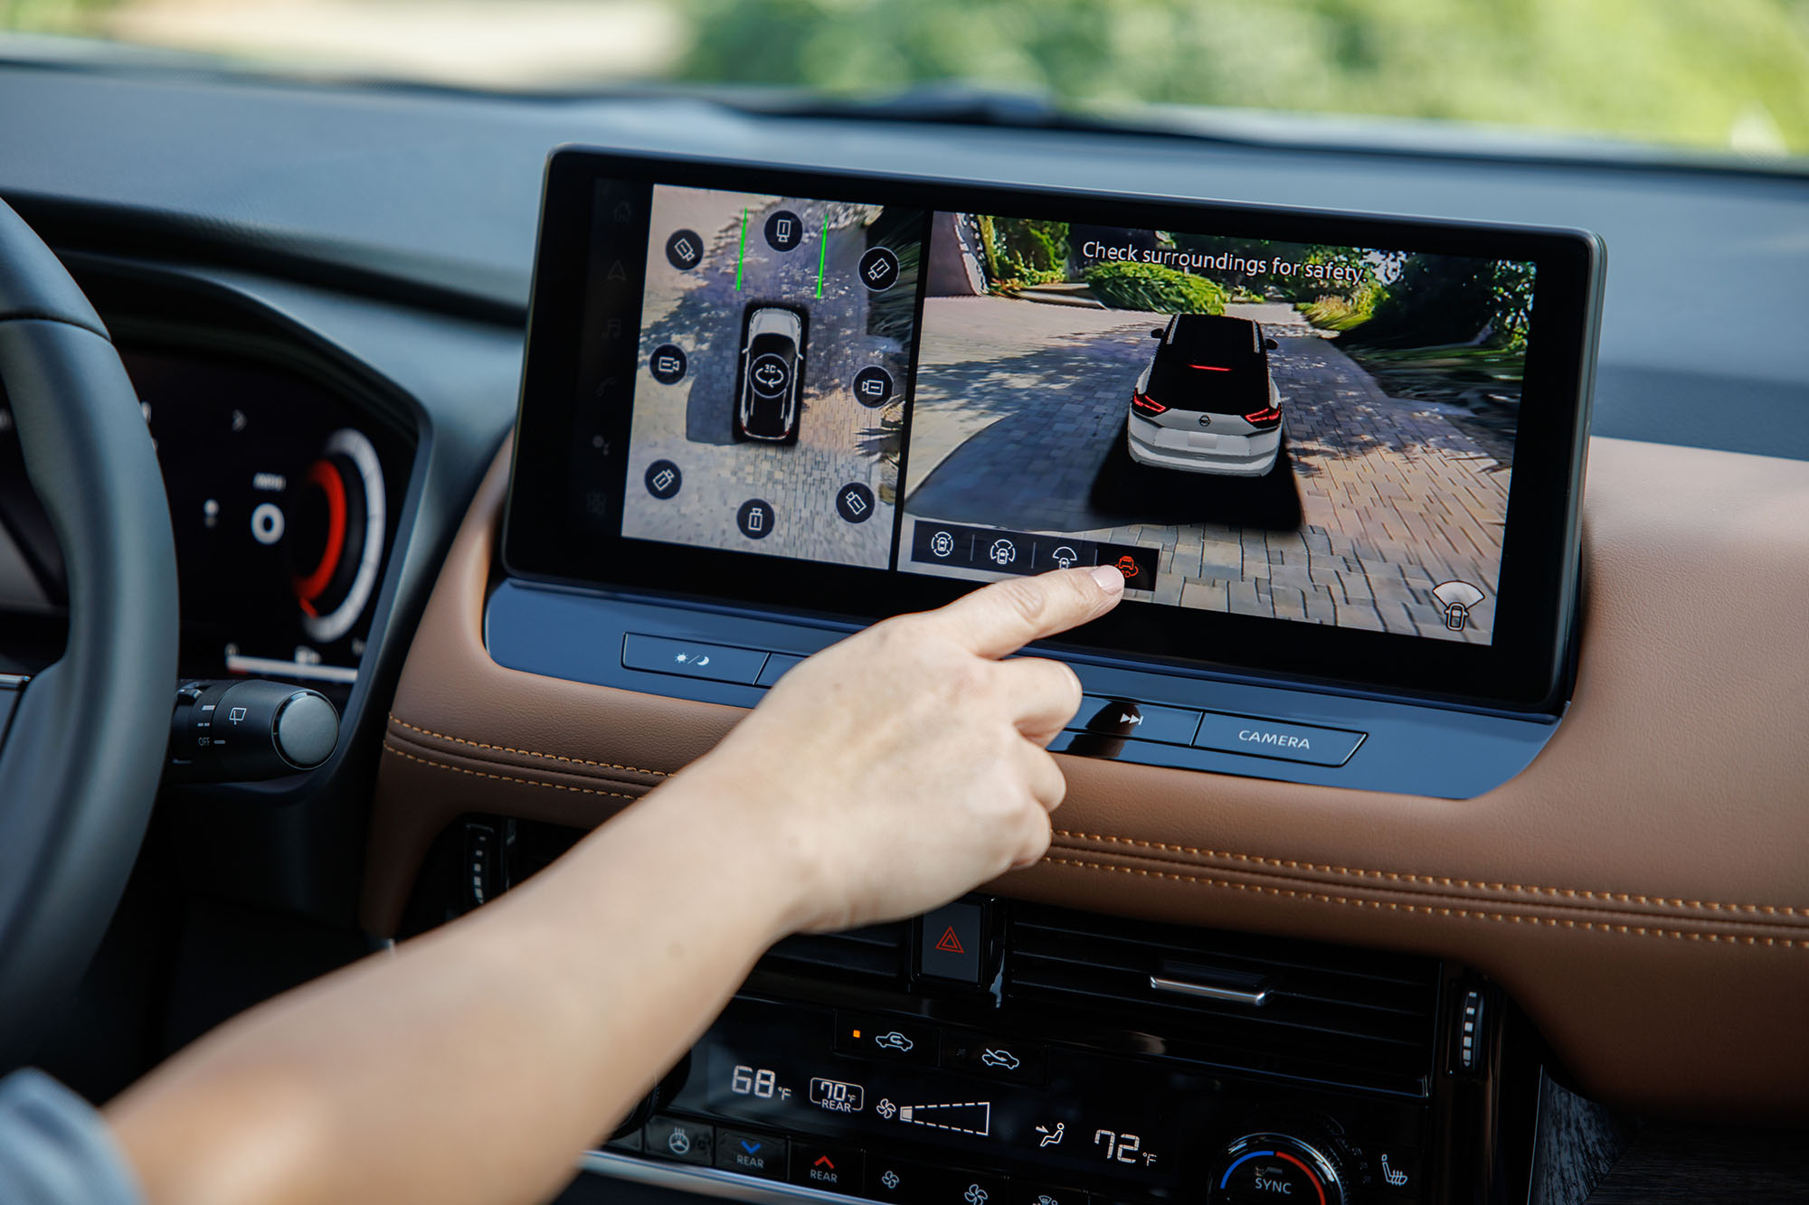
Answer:
<svg viewBox="0 0 1809 1205"><path fill-rule="evenodd" d="M157 447L183 673L347 693L396 534L409 440L300 375L121 349Z"/></svg>

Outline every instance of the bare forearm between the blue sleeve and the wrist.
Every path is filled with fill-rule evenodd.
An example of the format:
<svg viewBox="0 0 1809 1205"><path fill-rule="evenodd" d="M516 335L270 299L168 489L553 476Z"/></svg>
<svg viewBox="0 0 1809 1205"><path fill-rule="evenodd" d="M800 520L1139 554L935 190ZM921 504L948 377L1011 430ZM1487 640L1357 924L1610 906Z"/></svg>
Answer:
<svg viewBox="0 0 1809 1205"><path fill-rule="evenodd" d="M109 1107L150 1200L546 1196L798 919L724 791L700 765L494 905L174 1058Z"/></svg>

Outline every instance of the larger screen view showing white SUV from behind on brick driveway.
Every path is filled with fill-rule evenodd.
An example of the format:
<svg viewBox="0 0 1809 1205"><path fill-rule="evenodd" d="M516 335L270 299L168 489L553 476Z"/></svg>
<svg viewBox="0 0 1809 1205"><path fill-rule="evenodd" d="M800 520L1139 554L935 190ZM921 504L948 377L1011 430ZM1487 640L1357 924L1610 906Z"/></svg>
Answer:
<svg viewBox="0 0 1809 1205"><path fill-rule="evenodd" d="M937 213L926 277L899 568L1491 640L1530 264Z"/></svg>

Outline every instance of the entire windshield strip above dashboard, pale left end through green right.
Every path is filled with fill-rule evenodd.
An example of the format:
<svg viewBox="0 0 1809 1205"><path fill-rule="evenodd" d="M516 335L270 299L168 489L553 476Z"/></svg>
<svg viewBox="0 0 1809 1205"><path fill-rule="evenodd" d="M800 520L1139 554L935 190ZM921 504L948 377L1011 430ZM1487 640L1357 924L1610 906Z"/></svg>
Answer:
<svg viewBox="0 0 1809 1205"><path fill-rule="evenodd" d="M1181 105L1809 150L1809 0L0 0L0 27L474 89L961 85L1143 121Z"/></svg>

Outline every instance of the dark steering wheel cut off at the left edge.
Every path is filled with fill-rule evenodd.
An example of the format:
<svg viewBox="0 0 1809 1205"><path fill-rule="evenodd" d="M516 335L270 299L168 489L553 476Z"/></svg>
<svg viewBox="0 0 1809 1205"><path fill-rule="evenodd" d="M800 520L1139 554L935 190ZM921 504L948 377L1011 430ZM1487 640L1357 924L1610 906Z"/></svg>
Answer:
<svg viewBox="0 0 1809 1205"><path fill-rule="evenodd" d="M0 203L0 391L69 574L62 659L0 697L0 1073L112 917L175 698L175 541L137 391L81 289Z"/></svg>

